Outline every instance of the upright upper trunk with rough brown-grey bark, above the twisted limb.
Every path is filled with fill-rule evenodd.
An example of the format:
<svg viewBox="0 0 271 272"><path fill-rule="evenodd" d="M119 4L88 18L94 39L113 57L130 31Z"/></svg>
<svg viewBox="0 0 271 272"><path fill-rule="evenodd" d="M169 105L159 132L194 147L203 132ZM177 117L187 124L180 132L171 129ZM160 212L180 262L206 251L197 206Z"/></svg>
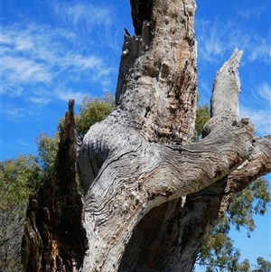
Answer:
<svg viewBox="0 0 271 272"><path fill-rule="evenodd" d="M140 35L125 35L117 121L147 141L185 143L193 133L197 105L196 5L182 0L131 4L134 24L141 10L150 15L141 18Z"/></svg>

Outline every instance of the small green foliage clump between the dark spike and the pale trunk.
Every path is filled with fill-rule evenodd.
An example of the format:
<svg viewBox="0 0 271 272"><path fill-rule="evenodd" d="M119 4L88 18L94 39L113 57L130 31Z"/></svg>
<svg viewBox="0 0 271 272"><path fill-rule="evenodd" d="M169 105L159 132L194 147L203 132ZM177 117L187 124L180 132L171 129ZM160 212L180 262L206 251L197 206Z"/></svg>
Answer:
<svg viewBox="0 0 271 272"><path fill-rule="evenodd" d="M105 119L114 107L115 101L110 94L106 94L104 99L95 98L92 100L85 97L79 108L79 116L75 118L77 132L81 135L86 134L89 127Z"/></svg>

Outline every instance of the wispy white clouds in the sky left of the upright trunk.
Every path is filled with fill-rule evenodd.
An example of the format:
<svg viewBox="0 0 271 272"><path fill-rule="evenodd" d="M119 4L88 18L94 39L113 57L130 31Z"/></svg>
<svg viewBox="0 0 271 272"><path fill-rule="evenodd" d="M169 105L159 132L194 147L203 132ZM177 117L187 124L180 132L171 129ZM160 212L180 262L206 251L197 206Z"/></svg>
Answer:
<svg viewBox="0 0 271 272"><path fill-rule="evenodd" d="M93 12L91 16L89 11ZM25 108L43 107L55 99L75 98L79 103L94 84L101 93L115 88L112 56L107 51L99 54L97 36L82 38L82 33L76 31L86 25L93 35L97 35L97 26L107 32L113 20L112 10L64 3L56 6L54 12L62 14L63 20L72 21L75 28L64 21L58 27L36 22L3 25L1 93L6 98L22 98ZM23 107L3 105L2 114L10 119L30 116L32 112Z"/></svg>

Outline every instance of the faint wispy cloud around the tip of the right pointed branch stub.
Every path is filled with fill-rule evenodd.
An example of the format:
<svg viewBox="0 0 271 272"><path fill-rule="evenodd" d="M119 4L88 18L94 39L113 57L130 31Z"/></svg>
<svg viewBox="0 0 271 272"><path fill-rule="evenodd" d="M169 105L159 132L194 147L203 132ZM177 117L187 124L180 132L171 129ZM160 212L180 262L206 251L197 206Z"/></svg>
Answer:
<svg viewBox="0 0 271 272"><path fill-rule="evenodd" d="M198 40L199 60L218 63L225 60L235 48L245 52L247 61L270 62L270 33L260 36L254 30L231 21L228 23L197 19L196 33Z"/></svg>

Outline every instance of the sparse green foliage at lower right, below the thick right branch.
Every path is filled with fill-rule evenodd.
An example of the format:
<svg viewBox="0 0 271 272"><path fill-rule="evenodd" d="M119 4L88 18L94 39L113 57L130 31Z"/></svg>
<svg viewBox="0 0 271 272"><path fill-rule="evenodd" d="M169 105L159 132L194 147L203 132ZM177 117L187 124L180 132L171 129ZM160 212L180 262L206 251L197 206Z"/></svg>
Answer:
<svg viewBox="0 0 271 272"><path fill-rule="evenodd" d="M201 247L198 263L206 267L206 272L233 271L233 272L257 272L270 271L265 267L271 263L263 258L257 258L257 269L252 270L247 259L240 261L240 252L234 248L233 240L229 238L229 230L234 226L237 230L241 227L250 232L255 230L256 224L253 216L264 215L267 206L271 202L271 192L268 182L261 178L251 183L246 189L238 192L236 198L229 206L227 217L219 226L207 236ZM259 268L260 267L260 268Z"/></svg>

